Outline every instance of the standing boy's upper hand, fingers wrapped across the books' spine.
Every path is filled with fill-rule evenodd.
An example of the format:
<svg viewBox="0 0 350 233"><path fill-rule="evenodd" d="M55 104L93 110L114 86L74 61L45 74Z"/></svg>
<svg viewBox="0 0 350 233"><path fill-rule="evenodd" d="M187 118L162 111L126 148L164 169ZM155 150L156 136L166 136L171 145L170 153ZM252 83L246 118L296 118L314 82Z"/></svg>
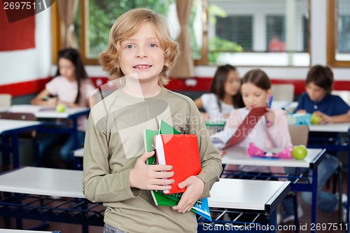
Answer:
<svg viewBox="0 0 350 233"><path fill-rule="evenodd" d="M154 155L154 151L141 155L135 166L130 171L130 188L139 188L141 190L170 190L174 179L174 171L170 165L148 165L146 160ZM165 179L167 178L167 179Z"/></svg>

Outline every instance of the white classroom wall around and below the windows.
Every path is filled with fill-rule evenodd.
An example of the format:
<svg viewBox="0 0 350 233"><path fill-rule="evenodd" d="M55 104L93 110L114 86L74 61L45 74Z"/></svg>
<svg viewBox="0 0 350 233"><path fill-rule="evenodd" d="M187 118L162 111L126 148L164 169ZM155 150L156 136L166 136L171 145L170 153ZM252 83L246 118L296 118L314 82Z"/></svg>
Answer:
<svg viewBox="0 0 350 233"><path fill-rule="evenodd" d="M326 64L326 0L311 0L311 65ZM56 71L52 65L50 10L36 15L36 48L0 52L0 85L46 78ZM255 66L239 66L242 75ZM304 80L308 67L260 67L271 78ZM214 76L215 66L195 67L195 76ZM333 69L335 80L349 80L350 68ZM106 76L100 66L87 66L89 76Z"/></svg>

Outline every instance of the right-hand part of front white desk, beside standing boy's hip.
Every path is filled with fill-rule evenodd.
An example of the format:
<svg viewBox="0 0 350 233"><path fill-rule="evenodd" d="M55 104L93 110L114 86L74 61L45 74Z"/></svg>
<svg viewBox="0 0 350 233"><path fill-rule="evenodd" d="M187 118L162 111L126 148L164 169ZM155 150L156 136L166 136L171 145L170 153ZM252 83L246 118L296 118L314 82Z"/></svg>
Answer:
<svg viewBox="0 0 350 233"><path fill-rule="evenodd" d="M211 197L208 199L209 206L216 208L216 211L211 211L211 216L214 218L214 213L220 213L216 219L211 221L210 226L217 228L218 225L230 225L230 222L223 219L225 213L230 213L230 217L233 216L231 220L235 221L236 230L239 229L238 223L241 223L241 227L246 225L260 225L262 228L266 225L273 226L274 229L269 232L276 232L276 209L289 191L289 181L221 178L219 182L214 183L210 191ZM258 219L261 217L265 219L260 220L259 223ZM198 223L198 232L206 232L204 224L209 224L209 220L199 219ZM207 229L209 229L208 226Z"/></svg>

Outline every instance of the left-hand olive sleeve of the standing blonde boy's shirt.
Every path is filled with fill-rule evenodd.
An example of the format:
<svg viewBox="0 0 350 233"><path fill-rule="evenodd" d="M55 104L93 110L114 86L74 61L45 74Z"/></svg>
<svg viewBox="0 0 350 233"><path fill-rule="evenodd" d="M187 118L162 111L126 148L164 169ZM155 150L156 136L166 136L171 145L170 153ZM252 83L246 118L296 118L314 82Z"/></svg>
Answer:
<svg viewBox="0 0 350 233"><path fill-rule="evenodd" d="M129 184L129 174L138 157L130 160L130 165L125 165L125 169L111 173L106 119L94 119L94 111L100 111L100 109L92 108L87 122L83 160L83 194L91 202L106 202L106 200L120 202L139 197L141 190L130 188Z"/></svg>

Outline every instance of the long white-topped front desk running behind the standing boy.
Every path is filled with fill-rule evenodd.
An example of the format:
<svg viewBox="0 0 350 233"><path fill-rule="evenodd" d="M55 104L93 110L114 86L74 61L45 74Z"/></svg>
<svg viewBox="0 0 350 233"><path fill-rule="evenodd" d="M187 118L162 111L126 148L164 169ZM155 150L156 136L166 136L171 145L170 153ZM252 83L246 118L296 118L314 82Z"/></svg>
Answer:
<svg viewBox="0 0 350 233"><path fill-rule="evenodd" d="M11 195L0 200L0 215L11 218L35 218L37 220L85 224L86 226L102 226L103 209L95 211L97 208L95 205L98 204L90 207L82 192L82 178L83 171L43 167L23 167L1 174L1 192L15 192L25 195ZM256 192L258 187L261 189L260 192ZM262 187L269 187L269 189L262 190ZM286 197L289 190L290 183L288 181L222 179L211 189L209 206L227 207L239 211L255 211L264 216L272 216L270 219L272 223L275 223L276 206ZM245 192L249 192L249 194ZM50 196L63 198L50 199ZM19 204L19 199L21 204ZM57 207L45 205L49 202L59 202L62 199L76 206L72 208L67 204ZM73 199L78 199L78 201L75 203ZM40 200L43 205L35 206L38 203L36 200ZM24 205L24 203L27 204ZM89 206L89 208L84 209L84 206ZM47 214L41 214L43 211L47 211ZM87 215L88 218L86 218Z"/></svg>

